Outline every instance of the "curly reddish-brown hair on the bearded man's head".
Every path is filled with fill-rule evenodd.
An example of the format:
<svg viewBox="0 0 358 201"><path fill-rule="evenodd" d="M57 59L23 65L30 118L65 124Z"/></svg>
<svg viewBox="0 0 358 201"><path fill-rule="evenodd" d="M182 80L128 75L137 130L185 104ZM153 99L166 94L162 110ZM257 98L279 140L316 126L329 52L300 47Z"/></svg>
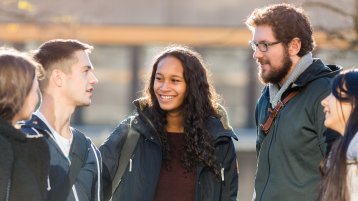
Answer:
<svg viewBox="0 0 358 201"><path fill-rule="evenodd" d="M315 47L313 29L307 14L302 8L290 4L275 4L255 9L246 20L250 30L268 25L275 38L286 46L294 38L301 40L298 56L302 57Z"/></svg>

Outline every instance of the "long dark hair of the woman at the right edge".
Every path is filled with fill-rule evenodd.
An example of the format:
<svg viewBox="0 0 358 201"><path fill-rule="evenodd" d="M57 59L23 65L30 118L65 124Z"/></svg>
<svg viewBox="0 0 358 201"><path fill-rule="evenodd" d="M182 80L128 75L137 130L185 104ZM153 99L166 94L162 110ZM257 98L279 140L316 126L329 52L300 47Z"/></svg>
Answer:
<svg viewBox="0 0 358 201"><path fill-rule="evenodd" d="M358 69L344 71L332 82L332 94L341 103L352 105L343 137L332 147L330 156L321 166L323 179L320 185L319 201L348 201L347 149L358 132Z"/></svg>

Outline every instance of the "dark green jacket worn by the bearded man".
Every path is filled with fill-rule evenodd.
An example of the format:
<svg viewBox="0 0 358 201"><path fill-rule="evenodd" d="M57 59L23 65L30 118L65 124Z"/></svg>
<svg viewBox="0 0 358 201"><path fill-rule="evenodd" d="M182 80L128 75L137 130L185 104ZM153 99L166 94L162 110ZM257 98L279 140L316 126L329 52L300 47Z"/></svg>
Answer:
<svg viewBox="0 0 358 201"><path fill-rule="evenodd" d="M258 160L254 201L315 200L319 163L327 149L321 100L330 93L330 80L340 70L315 59L283 94L282 98L298 90L267 135L259 126L271 108L268 86L264 88L255 110Z"/></svg>

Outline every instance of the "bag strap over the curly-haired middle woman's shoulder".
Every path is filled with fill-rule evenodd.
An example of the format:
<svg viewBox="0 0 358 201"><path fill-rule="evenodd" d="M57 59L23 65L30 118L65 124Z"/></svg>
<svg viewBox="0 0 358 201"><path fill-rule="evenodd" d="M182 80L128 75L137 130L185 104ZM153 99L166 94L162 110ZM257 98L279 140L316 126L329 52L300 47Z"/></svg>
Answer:
<svg viewBox="0 0 358 201"><path fill-rule="evenodd" d="M112 196L113 196L113 193L118 188L119 183L122 180L124 171L126 170L126 168L128 166L128 162L129 162L131 156L133 155L134 149L135 149L138 139L139 139L140 134L138 133L138 131L136 131L135 129L132 128L133 119L134 118L131 119L131 121L129 123L128 132L127 132L126 136L124 136L125 139L124 139L124 144L123 144L122 151L120 154L120 158L118 161L118 168L117 168L116 174L112 181Z"/></svg>

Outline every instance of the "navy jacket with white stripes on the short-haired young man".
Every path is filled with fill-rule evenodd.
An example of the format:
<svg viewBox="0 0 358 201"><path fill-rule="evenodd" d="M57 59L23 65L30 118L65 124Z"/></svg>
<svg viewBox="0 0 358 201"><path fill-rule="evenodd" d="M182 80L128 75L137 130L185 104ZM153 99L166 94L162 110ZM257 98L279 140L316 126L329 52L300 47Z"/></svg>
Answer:
<svg viewBox="0 0 358 201"><path fill-rule="evenodd" d="M57 145L51 130L36 115L32 115L31 120L27 121L22 127L22 131L30 135L42 134L50 150L50 187L52 190L62 185L64 178L67 177L70 169L70 161L63 154ZM80 152L76 146L83 135L79 131L72 129L73 141L70 148L69 157L71 160ZM66 201L100 201L102 200L101 187L101 154L89 138L87 141L87 154L82 168L80 169L74 185L69 190ZM50 192L51 193L51 192Z"/></svg>

